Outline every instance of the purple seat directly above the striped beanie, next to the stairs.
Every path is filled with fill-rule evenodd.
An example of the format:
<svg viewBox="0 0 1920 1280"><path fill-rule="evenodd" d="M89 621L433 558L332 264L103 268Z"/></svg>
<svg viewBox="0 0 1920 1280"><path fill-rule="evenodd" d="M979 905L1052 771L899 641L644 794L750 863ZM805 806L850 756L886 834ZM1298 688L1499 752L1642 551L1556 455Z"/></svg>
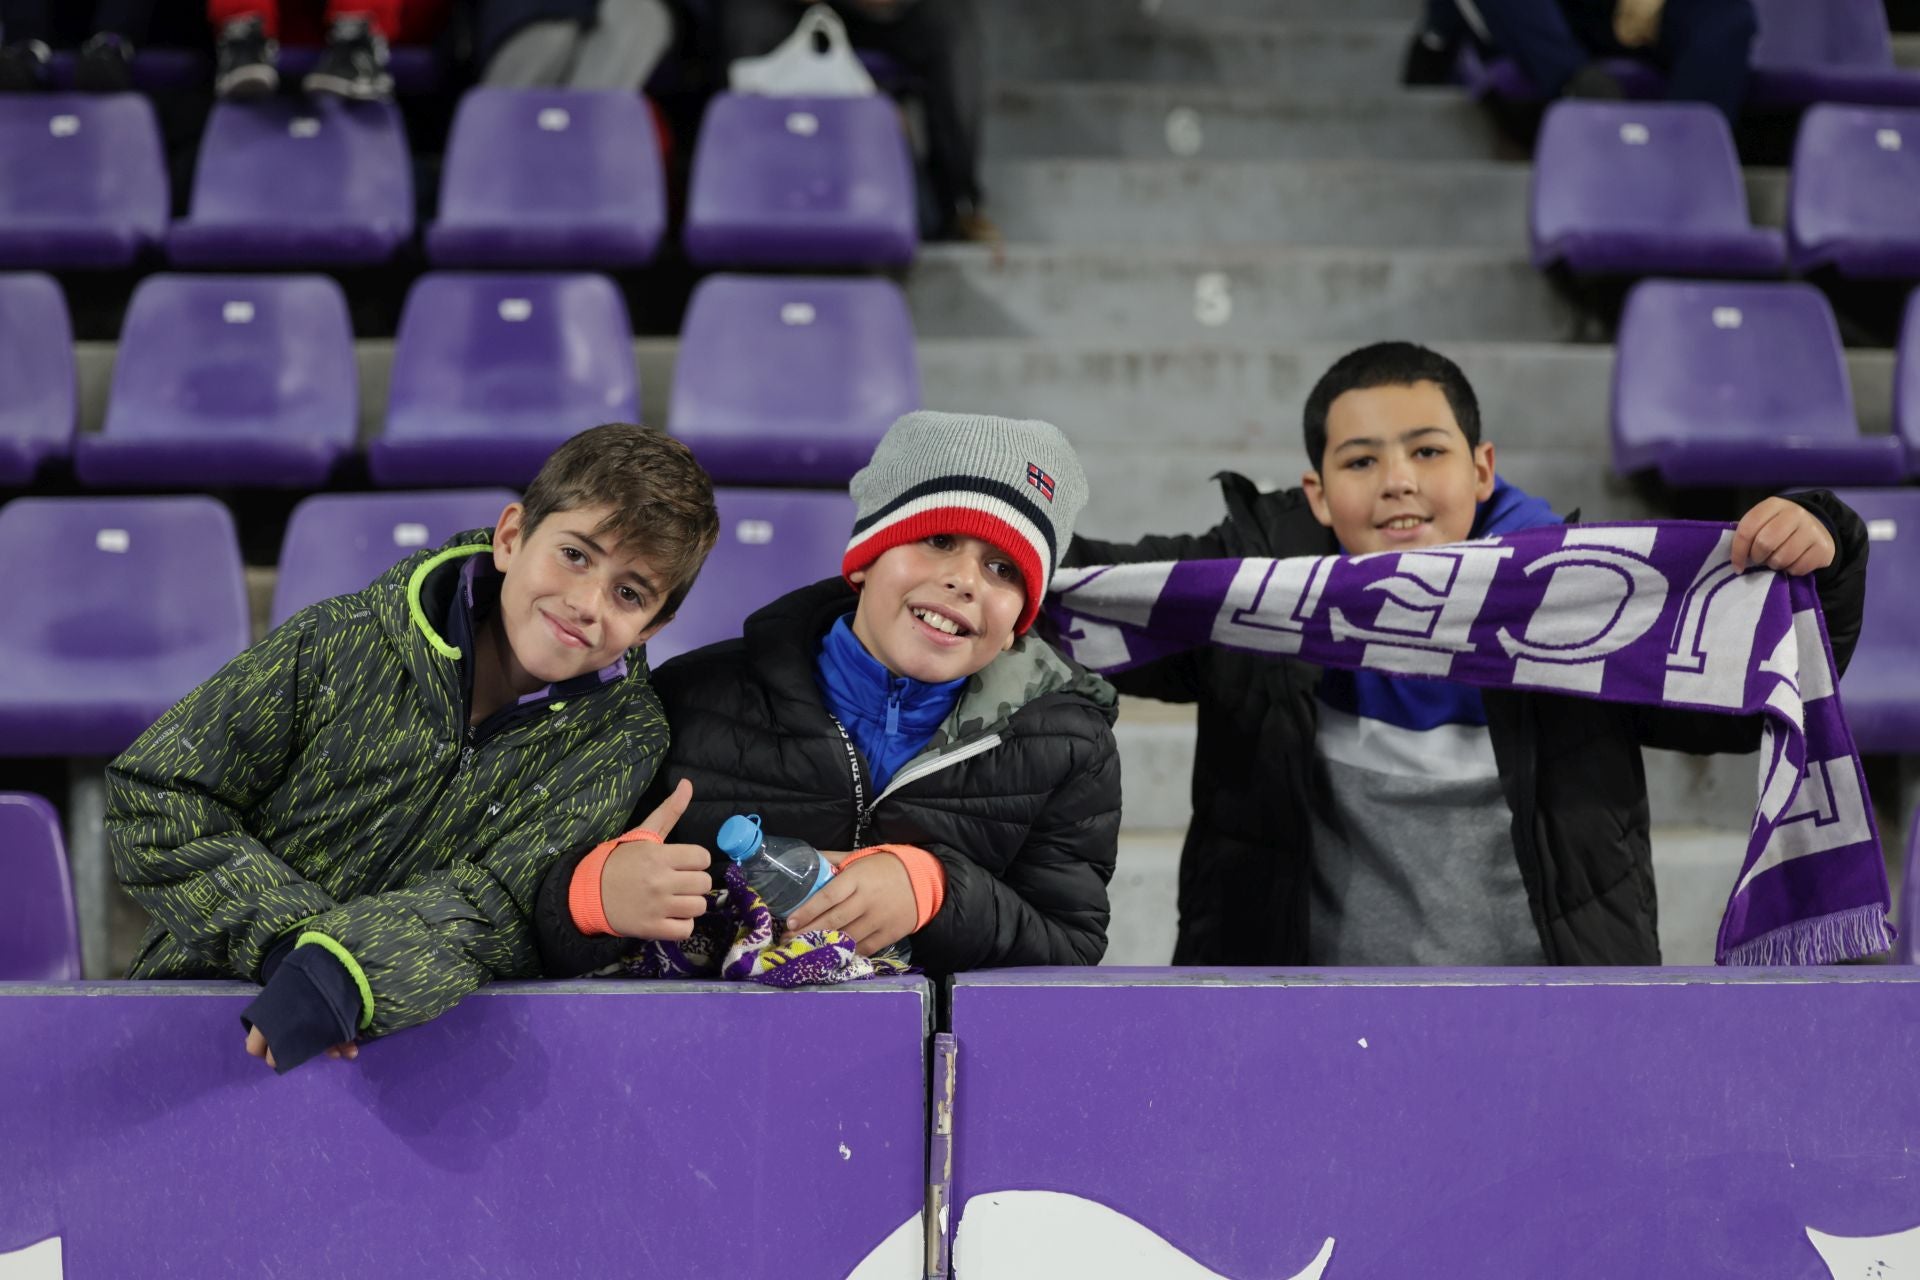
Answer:
<svg viewBox="0 0 1920 1280"><path fill-rule="evenodd" d="M666 430L722 484L843 486L920 409L891 280L708 276L680 330Z"/></svg>

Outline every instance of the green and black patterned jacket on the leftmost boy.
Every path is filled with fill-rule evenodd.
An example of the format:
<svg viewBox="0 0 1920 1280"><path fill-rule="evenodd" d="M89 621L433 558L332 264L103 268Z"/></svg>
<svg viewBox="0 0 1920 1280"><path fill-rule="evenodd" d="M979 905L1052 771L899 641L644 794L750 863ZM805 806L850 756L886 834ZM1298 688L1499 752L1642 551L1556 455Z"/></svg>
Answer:
<svg viewBox="0 0 1920 1280"><path fill-rule="evenodd" d="M474 741L440 628L488 547L461 533L303 608L108 768L113 869L154 917L129 977L259 981L298 931L353 975L363 1036L538 977L540 877L626 825L666 720L636 649Z"/></svg>

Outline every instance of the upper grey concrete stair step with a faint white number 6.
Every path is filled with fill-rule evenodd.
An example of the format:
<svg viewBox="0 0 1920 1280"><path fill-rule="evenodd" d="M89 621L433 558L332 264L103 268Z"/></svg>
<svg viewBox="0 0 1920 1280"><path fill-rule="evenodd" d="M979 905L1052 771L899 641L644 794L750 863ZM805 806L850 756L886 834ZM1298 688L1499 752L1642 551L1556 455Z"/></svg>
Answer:
<svg viewBox="0 0 1920 1280"><path fill-rule="evenodd" d="M1016 83L1004 73L996 81L981 140L987 159L1528 157L1452 88L1361 86L1329 100L1286 88Z"/></svg>

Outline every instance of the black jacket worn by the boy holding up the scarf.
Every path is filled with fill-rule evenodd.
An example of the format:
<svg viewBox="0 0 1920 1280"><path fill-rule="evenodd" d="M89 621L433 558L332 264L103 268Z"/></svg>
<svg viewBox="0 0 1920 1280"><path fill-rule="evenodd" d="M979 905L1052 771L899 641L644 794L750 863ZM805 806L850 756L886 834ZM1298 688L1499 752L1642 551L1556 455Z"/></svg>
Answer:
<svg viewBox="0 0 1920 1280"><path fill-rule="evenodd" d="M1139 543L1073 539L1069 564L1338 555L1300 489L1261 493L1221 476L1227 520ZM1803 493L1834 530L1816 578L1834 660L1860 635L1866 528L1832 493ZM1321 668L1196 649L1114 677L1121 693L1198 702L1192 825L1181 852L1181 965L1296 965L1308 958L1313 850L1308 806L1325 794L1313 735ZM1642 747L1759 748L1753 716L1628 706L1551 693L1484 693L1513 848L1549 963L1657 965L1653 858Z"/></svg>

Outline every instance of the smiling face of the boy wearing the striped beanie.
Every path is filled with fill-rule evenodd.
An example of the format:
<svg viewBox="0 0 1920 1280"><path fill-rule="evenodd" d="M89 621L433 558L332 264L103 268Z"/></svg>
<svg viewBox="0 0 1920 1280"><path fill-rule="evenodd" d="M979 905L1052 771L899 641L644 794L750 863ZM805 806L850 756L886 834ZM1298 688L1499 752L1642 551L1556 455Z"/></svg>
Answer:
<svg viewBox="0 0 1920 1280"><path fill-rule="evenodd" d="M889 547L849 580L860 587L852 633L895 676L960 679L1014 647L1027 587L993 543L935 533Z"/></svg>

